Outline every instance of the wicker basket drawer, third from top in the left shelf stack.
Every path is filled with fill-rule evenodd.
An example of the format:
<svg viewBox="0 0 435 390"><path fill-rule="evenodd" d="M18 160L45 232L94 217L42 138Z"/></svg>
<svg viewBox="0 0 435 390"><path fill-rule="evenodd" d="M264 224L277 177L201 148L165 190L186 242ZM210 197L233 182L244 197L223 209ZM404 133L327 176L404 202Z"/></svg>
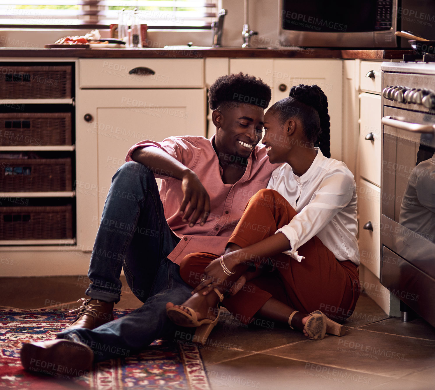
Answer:
<svg viewBox="0 0 435 390"><path fill-rule="evenodd" d="M0 159L0 167L1 192L72 191L70 158Z"/></svg>

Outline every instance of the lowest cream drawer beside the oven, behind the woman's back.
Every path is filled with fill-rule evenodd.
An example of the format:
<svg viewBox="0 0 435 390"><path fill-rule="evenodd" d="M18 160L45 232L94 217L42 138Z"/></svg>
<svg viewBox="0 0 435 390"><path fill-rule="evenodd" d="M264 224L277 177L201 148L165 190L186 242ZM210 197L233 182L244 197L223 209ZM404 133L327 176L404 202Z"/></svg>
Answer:
<svg viewBox="0 0 435 390"><path fill-rule="evenodd" d="M360 179L357 193L361 263L379 277L381 190L376 185Z"/></svg>

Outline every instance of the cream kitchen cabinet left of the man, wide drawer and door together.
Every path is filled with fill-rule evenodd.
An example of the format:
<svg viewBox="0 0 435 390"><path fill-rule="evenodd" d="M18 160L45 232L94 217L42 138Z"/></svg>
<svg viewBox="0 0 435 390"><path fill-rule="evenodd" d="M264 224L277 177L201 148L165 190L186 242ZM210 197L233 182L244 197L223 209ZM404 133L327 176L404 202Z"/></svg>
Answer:
<svg viewBox="0 0 435 390"><path fill-rule="evenodd" d="M106 60L80 60L76 193L77 242L83 248L94 244L111 178L132 145L206 135L204 60L110 61L117 71L106 72ZM137 67L155 73L128 73Z"/></svg>

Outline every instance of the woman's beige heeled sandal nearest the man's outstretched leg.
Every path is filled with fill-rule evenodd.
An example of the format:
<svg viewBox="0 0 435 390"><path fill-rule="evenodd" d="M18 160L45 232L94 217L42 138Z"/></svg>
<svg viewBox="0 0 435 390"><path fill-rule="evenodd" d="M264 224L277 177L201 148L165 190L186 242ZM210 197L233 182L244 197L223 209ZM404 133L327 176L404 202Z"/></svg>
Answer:
<svg viewBox="0 0 435 390"><path fill-rule="evenodd" d="M224 299L224 295L221 294L221 292L216 288L214 288L213 291L218 294L219 302L222 302L222 300ZM170 307L166 309L167 316L176 325L184 326L187 328L196 327L195 335L192 338L192 341L194 343L200 343L201 345L204 345L207 341L208 336L211 333L211 330L218 323L219 311L215 319L204 318L198 321L198 317L196 316L196 313L193 309L187 306L180 307L183 309L187 309L189 313L186 313L183 309L180 309L178 307ZM217 309L219 310L219 307Z"/></svg>

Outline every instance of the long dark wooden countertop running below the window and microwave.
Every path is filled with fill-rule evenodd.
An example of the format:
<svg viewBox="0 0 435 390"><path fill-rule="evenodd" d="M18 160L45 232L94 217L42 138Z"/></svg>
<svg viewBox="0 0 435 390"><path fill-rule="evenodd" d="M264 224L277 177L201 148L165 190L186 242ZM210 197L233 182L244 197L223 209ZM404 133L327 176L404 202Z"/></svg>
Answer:
<svg viewBox="0 0 435 390"><path fill-rule="evenodd" d="M412 50L339 50L310 48L242 49L233 48L145 48L145 49L40 49L1 47L0 57L47 58L344 58L400 60Z"/></svg>

